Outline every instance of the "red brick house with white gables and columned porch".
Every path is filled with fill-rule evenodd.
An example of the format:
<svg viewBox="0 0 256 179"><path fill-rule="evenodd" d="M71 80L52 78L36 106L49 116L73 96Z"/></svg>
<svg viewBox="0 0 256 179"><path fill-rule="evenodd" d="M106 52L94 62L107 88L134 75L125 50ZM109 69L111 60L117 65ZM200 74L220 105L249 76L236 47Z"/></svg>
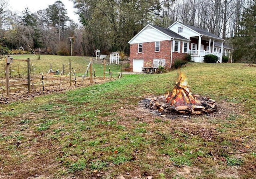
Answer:
<svg viewBox="0 0 256 179"><path fill-rule="evenodd" d="M187 54L191 54L195 62L203 62L204 55L214 54L221 63L223 52L232 51L232 48L224 49L223 42L224 39L206 30L180 22L168 28L148 24L128 42L130 68L132 72L159 65L170 69L176 59L184 60Z"/></svg>

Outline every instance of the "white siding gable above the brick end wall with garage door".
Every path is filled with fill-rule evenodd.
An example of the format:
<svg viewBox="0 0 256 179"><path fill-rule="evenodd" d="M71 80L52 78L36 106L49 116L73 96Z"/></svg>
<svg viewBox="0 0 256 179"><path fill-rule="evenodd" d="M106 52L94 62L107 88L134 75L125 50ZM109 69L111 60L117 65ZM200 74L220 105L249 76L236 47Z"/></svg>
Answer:
<svg viewBox="0 0 256 179"><path fill-rule="evenodd" d="M170 40L170 37L148 26L146 29L140 32L140 34L138 34L138 36L136 36L136 38L134 38L130 42L130 44L156 42L156 41L163 41L163 40Z"/></svg>

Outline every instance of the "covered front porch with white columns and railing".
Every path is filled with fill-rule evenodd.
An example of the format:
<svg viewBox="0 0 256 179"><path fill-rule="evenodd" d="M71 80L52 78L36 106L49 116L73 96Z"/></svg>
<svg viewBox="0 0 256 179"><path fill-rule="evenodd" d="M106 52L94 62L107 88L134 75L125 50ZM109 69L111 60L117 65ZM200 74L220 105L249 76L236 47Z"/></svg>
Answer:
<svg viewBox="0 0 256 179"><path fill-rule="evenodd" d="M190 40L189 53L194 62L202 63L205 55L213 54L218 57L218 63L222 63L223 39L200 35L190 37ZM220 44L220 48L215 46L215 43Z"/></svg>

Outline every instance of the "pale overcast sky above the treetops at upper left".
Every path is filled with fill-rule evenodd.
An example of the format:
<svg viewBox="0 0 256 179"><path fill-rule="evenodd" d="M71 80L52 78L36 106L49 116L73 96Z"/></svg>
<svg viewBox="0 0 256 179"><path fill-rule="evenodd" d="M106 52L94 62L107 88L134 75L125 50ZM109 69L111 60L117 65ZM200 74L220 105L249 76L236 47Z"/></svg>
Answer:
<svg viewBox="0 0 256 179"><path fill-rule="evenodd" d="M7 0L13 12L22 12L26 7L28 7L28 9L33 13L38 10L48 8L48 5L52 5L56 1L57 0ZM68 17L73 19L75 22L78 22L78 15L74 13L75 9L73 8L73 3L69 0L61 1L67 9Z"/></svg>

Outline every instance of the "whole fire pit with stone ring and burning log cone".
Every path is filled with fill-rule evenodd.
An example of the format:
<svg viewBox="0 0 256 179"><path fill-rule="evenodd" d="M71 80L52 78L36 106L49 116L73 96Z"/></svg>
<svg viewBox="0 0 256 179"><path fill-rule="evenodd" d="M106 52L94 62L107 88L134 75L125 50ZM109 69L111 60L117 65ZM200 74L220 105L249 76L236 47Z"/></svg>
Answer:
<svg viewBox="0 0 256 179"><path fill-rule="evenodd" d="M146 107L165 113L210 114L216 112L217 104L210 97L192 95L185 75L179 77L171 93L152 98Z"/></svg>

